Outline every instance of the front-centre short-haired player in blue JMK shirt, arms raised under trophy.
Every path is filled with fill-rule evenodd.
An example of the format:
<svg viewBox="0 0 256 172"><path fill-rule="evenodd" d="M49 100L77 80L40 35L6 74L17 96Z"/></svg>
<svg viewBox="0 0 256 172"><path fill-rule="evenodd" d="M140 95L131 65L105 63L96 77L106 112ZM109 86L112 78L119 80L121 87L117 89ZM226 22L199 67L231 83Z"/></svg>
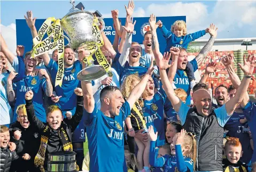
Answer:
<svg viewBox="0 0 256 172"><path fill-rule="evenodd" d="M79 56L90 52L79 50ZM83 67L85 67L83 65ZM117 87L107 86L100 92L100 110L97 110L90 82L82 82L84 93L84 121L90 154L90 171L127 171L123 128L135 101L141 96L153 72L153 64L141 82L131 91L127 101Z"/></svg>

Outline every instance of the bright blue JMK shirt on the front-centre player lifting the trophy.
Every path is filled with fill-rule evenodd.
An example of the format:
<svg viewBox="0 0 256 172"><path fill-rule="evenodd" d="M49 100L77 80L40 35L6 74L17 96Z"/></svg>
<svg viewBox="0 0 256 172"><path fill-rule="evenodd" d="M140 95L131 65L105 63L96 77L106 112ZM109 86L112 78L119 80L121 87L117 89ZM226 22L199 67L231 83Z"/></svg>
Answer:
<svg viewBox="0 0 256 172"><path fill-rule="evenodd" d="M109 118L97 110L96 104L92 113L84 110L90 171L127 171L123 127L129 114L130 105L127 101L122 105L119 115L114 118Z"/></svg>

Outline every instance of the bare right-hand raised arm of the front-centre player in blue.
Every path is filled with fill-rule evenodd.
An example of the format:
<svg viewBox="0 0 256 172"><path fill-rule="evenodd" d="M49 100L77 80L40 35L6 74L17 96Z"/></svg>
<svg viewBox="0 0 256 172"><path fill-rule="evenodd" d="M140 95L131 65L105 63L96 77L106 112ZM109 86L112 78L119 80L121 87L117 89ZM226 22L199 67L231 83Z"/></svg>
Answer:
<svg viewBox="0 0 256 172"><path fill-rule="evenodd" d="M143 76L143 79L130 92L130 96L127 99L128 103L130 105L130 109L133 108L135 101L137 101L139 99L139 97L141 97L143 91L146 88L146 84L148 83L149 78L151 77L153 71L154 71L154 67L153 67L153 58L152 58L150 67L149 67L148 71L146 72L146 74Z"/></svg>

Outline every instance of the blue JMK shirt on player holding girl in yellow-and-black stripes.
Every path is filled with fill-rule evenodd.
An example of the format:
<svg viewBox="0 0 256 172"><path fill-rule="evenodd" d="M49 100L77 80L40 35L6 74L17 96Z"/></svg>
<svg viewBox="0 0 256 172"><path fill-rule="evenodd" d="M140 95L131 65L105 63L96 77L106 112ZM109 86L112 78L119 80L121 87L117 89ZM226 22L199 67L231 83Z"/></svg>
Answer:
<svg viewBox="0 0 256 172"><path fill-rule="evenodd" d="M153 99L144 100L144 107L142 107L146 127L153 126L154 132L158 131L157 146L165 144L165 125L164 125L164 111L166 105L166 93L160 89L154 94Z"/></svg>

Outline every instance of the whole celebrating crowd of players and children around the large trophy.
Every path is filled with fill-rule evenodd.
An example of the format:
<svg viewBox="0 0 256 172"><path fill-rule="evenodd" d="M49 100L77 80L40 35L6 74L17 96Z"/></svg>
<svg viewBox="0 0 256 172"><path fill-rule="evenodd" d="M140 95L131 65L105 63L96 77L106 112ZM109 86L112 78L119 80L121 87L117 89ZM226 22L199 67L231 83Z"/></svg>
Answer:
<svg viewBox="0 0 256 172"><path fill-rule="evenodd" d="M54 87L58 51L33 58L32 51L18 45L16 57L1 34L0 171L45 171L49 153L57 151L74 151L80 171L256 171L256 105L247 93L254 56L244 56L239 64L242 81L232 54L222 57L232 85L217 85L214 104L206 81L215 62L207 64L199 83L194 72L211 51L218 28L211 24L188 34L178 20L168 30L151 14L142 48L132 42L134 7L133 1L125 6L125 26L118 10L111 11L115 39L111 43L102 32L101 51L113 75L94 81L77 79L90 51L78 48L76 60L65 46L63 82ZM32 11L25 19L35 38ZM188 61L188 44L205 34L210 39ZM167 43L164 53L161 36ZM89 152L84 155L86 136Z"/></svg>

